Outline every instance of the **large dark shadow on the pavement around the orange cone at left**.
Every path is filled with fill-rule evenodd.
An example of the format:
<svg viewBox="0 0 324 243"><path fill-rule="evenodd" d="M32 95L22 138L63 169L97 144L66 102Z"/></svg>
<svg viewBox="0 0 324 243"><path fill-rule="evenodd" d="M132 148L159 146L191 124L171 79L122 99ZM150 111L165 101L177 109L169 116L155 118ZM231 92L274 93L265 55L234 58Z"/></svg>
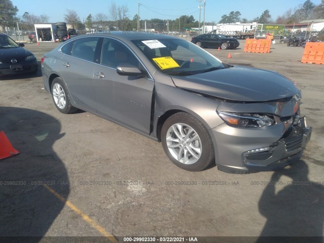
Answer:
<svg viewBox="0 0 324 243"><path fill-rule="evenodd" d="M0 107L0 131L20 151L0 160L0 236L44 236L63 209L46 188L69 195L66 168L53 150L64 136L60 130L60 122L43 112Z"/></svg>

